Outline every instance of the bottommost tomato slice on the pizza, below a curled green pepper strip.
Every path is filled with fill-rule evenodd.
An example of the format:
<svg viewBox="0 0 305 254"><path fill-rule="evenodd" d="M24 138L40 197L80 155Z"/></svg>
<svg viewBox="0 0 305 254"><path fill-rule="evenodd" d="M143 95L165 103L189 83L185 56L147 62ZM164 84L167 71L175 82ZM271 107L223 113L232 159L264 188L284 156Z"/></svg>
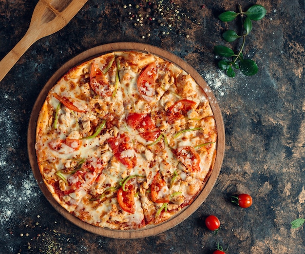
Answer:
<svg viewBox="0 0 305 254"><path fill-rule="evenodd" d="M125 185L125 190L121 187L117 192L117 201L119 206L127 213L135 213L134 187L132 184Z"/></svg>

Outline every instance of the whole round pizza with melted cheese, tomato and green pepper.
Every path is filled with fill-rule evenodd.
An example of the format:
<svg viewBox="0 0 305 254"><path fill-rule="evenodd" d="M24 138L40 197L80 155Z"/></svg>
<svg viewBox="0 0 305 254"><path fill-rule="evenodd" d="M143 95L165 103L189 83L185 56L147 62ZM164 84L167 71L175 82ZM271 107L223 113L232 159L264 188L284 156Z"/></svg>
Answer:
<svg viewBox="0 0 305 254"><path fill-rule="evenodd" d="M117 51L69 70L38 115L42 179L69 213L136 230L171 219L209 178L217 129L190 74L150 53Z"/></svg>

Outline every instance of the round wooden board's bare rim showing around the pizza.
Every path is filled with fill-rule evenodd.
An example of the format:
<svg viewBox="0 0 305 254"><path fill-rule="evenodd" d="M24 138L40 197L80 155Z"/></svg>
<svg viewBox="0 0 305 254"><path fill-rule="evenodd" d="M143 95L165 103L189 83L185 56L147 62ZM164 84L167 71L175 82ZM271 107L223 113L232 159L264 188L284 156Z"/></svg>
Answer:
<svg viewBox="0 0 305 254"><path fill-rule="evenodd" d="M102 55L108 52L124 51L124 50L127 51L134 50L134 51L152 53L163 59L167 59L171 61L172 63L179 66L181 69L185 70L187 73L191 74L192 78L194 78L194 80L204 89L205 93L207 94L210 100L210 105L216 121L218 139L217 139L216 160L210 178L206 182L206 185L201 191L201 193L196 197L196 199L191 203L191 205L183 209L178 215L172 217L170 220L165 221L159 225L149 225L146 226L145 228L138 230L120 231L120 230L111 230L107 228L100 228L90 225L86 222L83 222L74 215L71 215L63 207L61 207L60 204L57 203L57 201L53 198L53 196L45 186L38 168L36 151L35 151L35 135L36 135L38 114L41 109L41 106L49 90L52 88L52 86L57 82L59 78L61 78L67 71L69 71L73 66L76 66L80 62L83 62L88 59L92 59L95 56ZM197 73L197 71L194 68L191 67L191 65L189 65L179 57L175 56L174 54L149 44L134 43L134 42L117 42L117 43L97 46L95 48L89 49L79 54L75 58L65 63L61 68L59 68L57 72L48 80L48 82L45 84L40 94L38 95L38 98L34 104L30 116L30 121L28 126L27 146L28 146L28 154L29 154L29 160L31 163L32 171L36 180L38 181L38 185L42 193L47 198L47 200L57 210L59 214L61 214L66 219L74 223L76 226L86 231L92 232L94 234L111 237L111 238L131 239L131 238L142 238L142 237L160 234L166 230L173 228L174 226L176 226L177 224L188 218L204 202L204 200L210 194L210 191L212 190L217 180L217 177L219 175L222 166L224 153L225 153L225 128L224 128L223 118L221 115L221 110L219 108L215 96L211 92L210 87L207 85L205 80Z"/></svg>

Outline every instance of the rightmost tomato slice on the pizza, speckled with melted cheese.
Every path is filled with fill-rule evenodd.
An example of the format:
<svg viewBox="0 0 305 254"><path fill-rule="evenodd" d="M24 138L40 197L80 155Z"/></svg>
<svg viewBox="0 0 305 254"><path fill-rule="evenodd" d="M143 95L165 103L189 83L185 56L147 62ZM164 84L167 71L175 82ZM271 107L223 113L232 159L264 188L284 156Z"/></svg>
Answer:
<svg viewBox="0 0 305 254"><path fill-rule="evenodd" d="M180 146L175 150L175 154L182 164L190 172L200 171L200 156L191 146Z"/></svg>

